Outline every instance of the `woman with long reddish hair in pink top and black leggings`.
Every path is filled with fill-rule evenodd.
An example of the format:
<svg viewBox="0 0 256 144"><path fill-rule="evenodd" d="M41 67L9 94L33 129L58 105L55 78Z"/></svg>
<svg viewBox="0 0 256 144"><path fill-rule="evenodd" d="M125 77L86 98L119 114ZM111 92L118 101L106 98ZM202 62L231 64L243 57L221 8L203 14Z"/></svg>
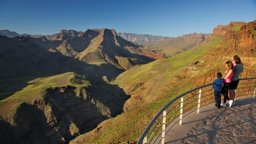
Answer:
<svg viewBox="0 0 256 144"><path fill-rule="evenodd" d="M233 63L231 61L227 61L225 77L223 78L224 84L221 91L222 95L224 96L224 100L223 100L223 103L220 104L220 106L226 107L227 100L230 100L228 97L228 87L231 84L231 77L233 76L233 74L234 74Z"/></svg>

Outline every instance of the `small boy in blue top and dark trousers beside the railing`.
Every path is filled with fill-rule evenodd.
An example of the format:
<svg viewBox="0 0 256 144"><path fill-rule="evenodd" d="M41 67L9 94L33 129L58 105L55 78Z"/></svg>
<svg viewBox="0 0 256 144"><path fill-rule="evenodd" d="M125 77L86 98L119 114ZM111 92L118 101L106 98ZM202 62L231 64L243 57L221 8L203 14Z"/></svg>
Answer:
<svg viewBox="0 0 256 144"><path fill-rule="evenodd" d="M214 97L215 97L215 107L220 108L220 102L221 102L221 87L224 83L224 79L221 79L222 74L219 72L217 73L217 79L213 81L212 89L214 91Z"/></svg>

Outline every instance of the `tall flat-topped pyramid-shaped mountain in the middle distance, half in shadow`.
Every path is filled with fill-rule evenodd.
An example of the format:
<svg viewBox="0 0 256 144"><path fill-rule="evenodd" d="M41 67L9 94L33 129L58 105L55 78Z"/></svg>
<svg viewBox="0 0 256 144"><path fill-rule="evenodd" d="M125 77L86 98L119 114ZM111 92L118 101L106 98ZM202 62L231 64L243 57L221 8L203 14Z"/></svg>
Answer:
<svg viewBox="0 0 256 144"><path fill-rule="evenodd" d="M99 31L98 36L93 37L88 47L75 56L86 63L97 63L123 71L136 65L165 58L161 54L156 54L124 40L117 36L114 29L92 29L92 31ZM75 39L73 38L73 40Z"/></svg>

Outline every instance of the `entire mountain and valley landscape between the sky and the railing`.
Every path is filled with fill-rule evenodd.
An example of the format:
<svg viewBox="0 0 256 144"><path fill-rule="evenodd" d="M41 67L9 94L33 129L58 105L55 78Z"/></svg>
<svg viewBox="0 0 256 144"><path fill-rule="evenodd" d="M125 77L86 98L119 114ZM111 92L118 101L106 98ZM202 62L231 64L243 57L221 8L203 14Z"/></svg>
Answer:
<svg viewBox="0 0 256 144"><path fill-rule="evenodd" d="M256 76L256 20L214 29L154 44L148 36L143 47L114 29L39 37L1 30L0 141L138 140L159 108L224 74L233 55L245 65L241 77Z"/></svg>

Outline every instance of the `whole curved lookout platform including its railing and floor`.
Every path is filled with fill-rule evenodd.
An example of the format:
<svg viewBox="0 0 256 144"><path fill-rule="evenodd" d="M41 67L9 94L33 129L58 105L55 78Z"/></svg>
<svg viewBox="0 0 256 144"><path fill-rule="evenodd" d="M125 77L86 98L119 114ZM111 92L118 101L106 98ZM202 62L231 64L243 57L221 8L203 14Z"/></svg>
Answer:
<svg viewBox="0 0 256 144"><path fill-rule="evenodd" d="M156 114L137 144L255 143L255 80L239 79L236 104L230 108L215 107L215 83L182 93Z"/></svg>

